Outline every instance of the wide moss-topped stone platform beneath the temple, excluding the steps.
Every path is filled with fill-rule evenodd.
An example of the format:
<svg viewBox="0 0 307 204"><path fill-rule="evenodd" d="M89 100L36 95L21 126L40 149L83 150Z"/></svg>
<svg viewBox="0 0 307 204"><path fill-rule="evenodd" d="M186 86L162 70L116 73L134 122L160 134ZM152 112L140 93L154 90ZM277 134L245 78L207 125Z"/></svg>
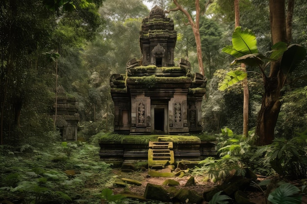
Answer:
<svg viewBox="0 0 307 204"><path fill-rule="evenodd" d="M190 135L99 134L100 158L118 166L123 162L148 162L150 142L173 142L175 161L216 156L214 138Z"/></svg>

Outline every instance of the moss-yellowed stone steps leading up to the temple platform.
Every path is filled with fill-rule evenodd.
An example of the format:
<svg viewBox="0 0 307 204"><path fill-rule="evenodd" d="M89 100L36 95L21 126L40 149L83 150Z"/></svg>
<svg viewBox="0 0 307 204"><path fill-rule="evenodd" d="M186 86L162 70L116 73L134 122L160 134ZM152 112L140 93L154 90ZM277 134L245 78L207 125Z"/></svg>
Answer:
<svg viewBox="0 0 307 204"><path fill-rule="evenodd" d="M148 144L148 167L151 169L163 169L167 165L175 163L173 142L153 142Z"/></svg>

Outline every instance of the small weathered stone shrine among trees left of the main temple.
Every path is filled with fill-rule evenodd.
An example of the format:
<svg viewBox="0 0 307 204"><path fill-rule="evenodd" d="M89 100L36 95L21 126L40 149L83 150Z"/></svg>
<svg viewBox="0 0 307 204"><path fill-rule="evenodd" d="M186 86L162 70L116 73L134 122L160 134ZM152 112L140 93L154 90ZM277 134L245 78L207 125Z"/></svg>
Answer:
<svg viewBox="0 0 307 204"><path fill-rule="evenodd" d="M60 130L63 140L77 141L77 127L80 121L77 100L74 96L65 93L62 86L57 89L57 113L55 117L55 104L53 106L51 115L55 119L55 126Z"/></svg>

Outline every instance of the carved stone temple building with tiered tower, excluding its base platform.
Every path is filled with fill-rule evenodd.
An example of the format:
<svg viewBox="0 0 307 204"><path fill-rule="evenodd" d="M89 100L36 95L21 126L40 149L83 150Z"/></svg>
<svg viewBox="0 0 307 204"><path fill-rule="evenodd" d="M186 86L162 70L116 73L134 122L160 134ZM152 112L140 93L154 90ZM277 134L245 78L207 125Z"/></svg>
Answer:
<svg viewBox="0 0 307 204"><path fill-rule="evenodd" d="M110 78L114 132L122 134L187 134L201 132L201 103L206 79L191 74L181 59L175 66L174 22L155 6L140 31L142 59L127 63L126 74Z"/></svg>

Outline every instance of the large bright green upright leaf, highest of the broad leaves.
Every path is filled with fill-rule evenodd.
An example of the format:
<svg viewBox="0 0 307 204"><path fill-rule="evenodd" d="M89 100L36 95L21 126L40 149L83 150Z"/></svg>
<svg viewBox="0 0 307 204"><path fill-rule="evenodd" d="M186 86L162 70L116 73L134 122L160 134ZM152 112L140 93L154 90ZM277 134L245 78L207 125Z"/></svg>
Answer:
<svg viewBox="0 0 307 204"><path fill-rule="evenodd" d="M232 47L244 55L258 53L255 34L247 28L242 30L240 26L232 33Z"/></svg>

